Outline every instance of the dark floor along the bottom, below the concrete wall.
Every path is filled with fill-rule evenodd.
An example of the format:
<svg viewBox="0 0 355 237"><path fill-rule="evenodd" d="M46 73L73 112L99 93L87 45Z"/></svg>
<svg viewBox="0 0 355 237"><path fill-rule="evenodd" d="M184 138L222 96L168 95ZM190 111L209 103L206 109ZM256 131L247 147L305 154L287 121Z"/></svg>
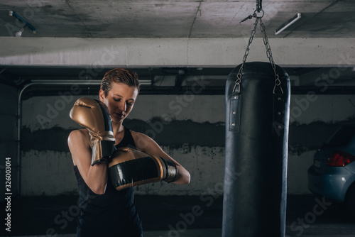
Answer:
<svg viewBox="0 0 355 237"><path fill-rule="evenodd" d="M11 233L1 228L1 236L55 236L75 233L76 196L22 197L11 199ZM136 196L136 205L145 231L169 230L184 214L200 206L200 215L187 221L188 229L222 228L222 197L202 202L200 197ZM207 206L208 204L208 206ZM316 206L316 208L315 208ZM1 203L5 210L5 203ZM6 211L1 219L6 218ZM4 220L5 221L5 220ZM289 195L286 218L287 236L330 236L354 233L355 221L348 211L337 204L313 195Z"/></svg>

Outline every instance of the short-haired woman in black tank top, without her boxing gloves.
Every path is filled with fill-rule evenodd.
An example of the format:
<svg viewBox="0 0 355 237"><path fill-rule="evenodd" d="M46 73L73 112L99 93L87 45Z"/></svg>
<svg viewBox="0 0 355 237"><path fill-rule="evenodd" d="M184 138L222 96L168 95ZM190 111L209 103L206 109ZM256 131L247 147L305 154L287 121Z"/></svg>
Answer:
<svg viewBox="0 0 355 237"><path fill-rule="evenodd" d="M189 184L190 173L170 158L152 138L122 125L133 109L139 88L136 72L122 68L110 70L102 79L99 99L109 109L116 148L129 146L171 160L178 170L173 183ZM133 187L116 191L107 179L107 163L91 165L92 150L87 129L72 131L68 145L80 191L81 214L78 217L77 236L143 236Z"/></svg>

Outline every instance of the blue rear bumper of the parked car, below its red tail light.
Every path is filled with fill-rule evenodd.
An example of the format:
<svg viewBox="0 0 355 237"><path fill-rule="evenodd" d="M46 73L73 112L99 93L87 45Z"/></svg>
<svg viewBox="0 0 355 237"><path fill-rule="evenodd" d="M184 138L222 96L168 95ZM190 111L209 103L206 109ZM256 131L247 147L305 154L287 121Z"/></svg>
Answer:
<svg viewBox="0 0 355 237"><path fill-rule="evenodd" d="M344 167L333 167L326 174L317 172L312 165L308 169L308 189L334 202L344 202L346 190L354 179L354 173Z"/></svg>

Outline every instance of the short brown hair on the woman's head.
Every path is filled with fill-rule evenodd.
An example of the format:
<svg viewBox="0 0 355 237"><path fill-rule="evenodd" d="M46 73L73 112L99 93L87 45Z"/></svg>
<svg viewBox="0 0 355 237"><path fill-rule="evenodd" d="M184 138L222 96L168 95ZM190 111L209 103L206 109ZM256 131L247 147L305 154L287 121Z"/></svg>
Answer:
<svg viewBox="0 0 355 237"><path fill-rule="evenodd" d="M123 83L129 87L136 87L139 91L141 88L141 83L138 80L138 75L132 70L116 67L105 73L104 78L102 78L101 87L105 93L105 97L109 94L109 90L112 88L112 82Z"/></svg>

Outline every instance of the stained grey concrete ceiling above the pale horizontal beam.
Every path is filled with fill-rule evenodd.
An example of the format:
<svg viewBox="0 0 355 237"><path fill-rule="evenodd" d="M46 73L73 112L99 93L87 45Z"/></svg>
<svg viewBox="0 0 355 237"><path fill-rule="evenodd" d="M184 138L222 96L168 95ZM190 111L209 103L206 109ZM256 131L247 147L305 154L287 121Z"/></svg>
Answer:
<svg viewBox="0 0 355 237"><path fill-rule="evenodd" d="M262 9L269 38L355 37L353 0L264 0ZM23 26L9 16L15 11L37 30L26 28L23 37L244 38L254 19L239 22L255 10L255 0L2 0L0 36ZM297 13L299 21L274 34Z"/></svg>

